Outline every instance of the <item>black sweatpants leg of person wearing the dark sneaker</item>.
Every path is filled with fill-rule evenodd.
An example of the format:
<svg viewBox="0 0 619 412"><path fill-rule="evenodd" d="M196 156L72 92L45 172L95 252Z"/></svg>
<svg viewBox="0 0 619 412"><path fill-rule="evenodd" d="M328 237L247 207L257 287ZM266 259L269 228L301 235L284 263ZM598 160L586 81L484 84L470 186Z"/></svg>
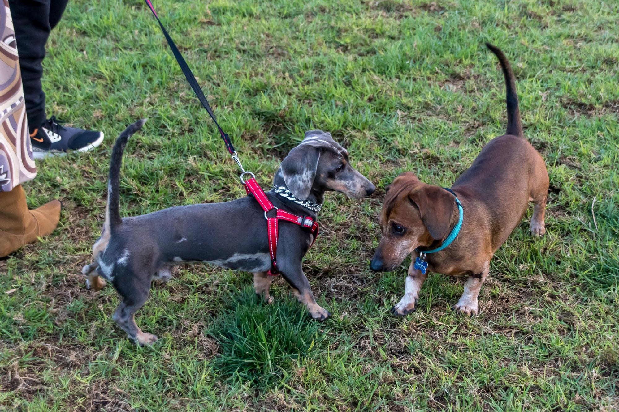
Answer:
<svg viewBox="0 0 619 412"><path fill-rule="evenodd" d="M30 133L43 124L45 93L41 87L45 43L56 27L69 0L9 0L19 66L22 70L26 114Z"/></svg>

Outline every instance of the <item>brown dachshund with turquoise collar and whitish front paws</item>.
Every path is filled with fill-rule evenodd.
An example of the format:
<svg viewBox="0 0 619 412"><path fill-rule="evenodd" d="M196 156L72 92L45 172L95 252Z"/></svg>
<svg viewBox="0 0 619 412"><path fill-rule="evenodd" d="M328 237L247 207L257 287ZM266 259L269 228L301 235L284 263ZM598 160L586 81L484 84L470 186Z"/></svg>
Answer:
<svg viewBox="0 0 619 412"><path fill-rule="evenodd" d="M505 77L506 134L485 145L451 187L452 192L425 184L410 172L400 174L387 188L380 218L383 236L370 267L389 272L402 264L409 253L420 256L410 265L404 297L393 307L393 314L403 316L415 310L427 272L467 275L464 293L454 309L467 315L477 314L477 296L490 271L490 259L520 223L529 202L534 203L531 233L545 233L546 165L522 135L516 84L509 62L500 49L488 43L487 46L498 57ZM462 212L457 207L458 200ZM448 243L461 213L462 226L456 238L441 251L423 254Z"/></svg>

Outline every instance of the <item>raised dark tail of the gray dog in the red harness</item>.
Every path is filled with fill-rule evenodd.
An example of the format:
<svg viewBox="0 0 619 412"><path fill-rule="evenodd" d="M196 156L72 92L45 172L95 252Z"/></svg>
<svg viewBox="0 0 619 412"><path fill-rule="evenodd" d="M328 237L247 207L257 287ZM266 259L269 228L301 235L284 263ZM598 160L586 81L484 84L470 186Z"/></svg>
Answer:
<svg viewBox="0 0 619 412"><path fill-rule="evenodd" d="M110 160L110 174L108 176L108 204L105 208L105 224L103 228L105 230L111 230L122 223L123 219L120 217L119 206L119 181L120 181L120 168L123 165L123 152L124 147L127 144L127 140L132 134L139 131L142 125L146 122L146 119L139 120L134 124L129 125L124 132L122 132L114 148L112 149L112 158Z"/></svg>

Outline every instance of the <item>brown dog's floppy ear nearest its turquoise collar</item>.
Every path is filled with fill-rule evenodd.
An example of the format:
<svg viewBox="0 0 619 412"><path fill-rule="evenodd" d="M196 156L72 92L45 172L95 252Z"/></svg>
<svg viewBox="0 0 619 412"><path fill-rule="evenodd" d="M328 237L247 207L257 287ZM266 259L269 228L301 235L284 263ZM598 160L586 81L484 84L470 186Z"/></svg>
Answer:
<svg viewBox="0 0 619 412"><path fill-rule="evenodd" d="M409 200L419 209L430 236L437 240L447 236L456 205L451 193L442 187L427 185L410 192Z"/></svg>

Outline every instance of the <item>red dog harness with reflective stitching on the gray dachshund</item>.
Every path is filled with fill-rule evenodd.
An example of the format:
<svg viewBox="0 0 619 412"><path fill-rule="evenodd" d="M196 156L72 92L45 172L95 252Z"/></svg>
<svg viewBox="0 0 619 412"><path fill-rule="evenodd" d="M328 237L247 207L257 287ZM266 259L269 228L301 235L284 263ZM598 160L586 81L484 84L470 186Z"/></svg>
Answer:
<svg viewBox="0 0 619 412"><path fill-rule="evenodd" d="M302 228L306 229L314 237L309 247L316 241L318 237L318 222L314 221L310 216L297 216L292 213L285 212L284 210L275 207L271 200L262 190L262 187L256 182L256 179L251 178L245 181L245 190L247 194L252 194L258 201L262 210L264 210L264 218L267 220L267 234L269 236L269 255L271 255L271 269L267 272L269 276L275 276L279 274L279 268L277 268L277 238L279 231L277 230L277 221L285 220L291 223L295 223ZM267 213L273 209L277 209L275 217L267 217Z"/></svg>

